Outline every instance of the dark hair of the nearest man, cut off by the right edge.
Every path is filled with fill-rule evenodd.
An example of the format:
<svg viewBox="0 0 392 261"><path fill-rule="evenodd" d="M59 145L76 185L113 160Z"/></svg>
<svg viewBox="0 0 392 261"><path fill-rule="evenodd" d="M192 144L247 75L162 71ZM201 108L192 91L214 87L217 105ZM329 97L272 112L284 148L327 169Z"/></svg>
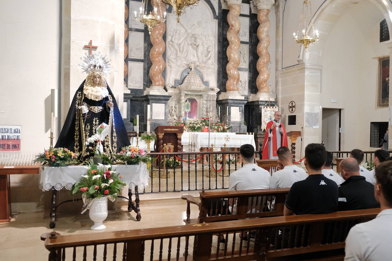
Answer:
<svg viewBox="0 0 392 261"><path fill-rule="evenodd" d="M377 183L380 184L385 200L392 206L392 162L379 164L375 171Z"/></svg>

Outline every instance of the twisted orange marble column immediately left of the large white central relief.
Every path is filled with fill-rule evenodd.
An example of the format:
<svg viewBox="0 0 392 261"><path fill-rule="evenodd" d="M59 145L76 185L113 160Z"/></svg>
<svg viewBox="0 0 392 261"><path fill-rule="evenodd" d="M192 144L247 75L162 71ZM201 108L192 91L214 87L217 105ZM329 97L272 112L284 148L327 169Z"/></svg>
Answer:
<svg viewBox="0 0 392 261"><path fill-rule="evenodd" d="M162 1L153 0L152 6L157 8L157 14L160 17L164 16L166 10L165 4ZM151 87L162 87L165 85L165 79L162 77L163 69L165 68L165 60L162 58L162 54L165 51L165 42L162 39L165 33L166 26L165 23L161 22L155 25L154 29L151 31L150 40L152 43L152 48L150 51L150 59L152 62L150 68L150 79L152 81Z"/></svg>

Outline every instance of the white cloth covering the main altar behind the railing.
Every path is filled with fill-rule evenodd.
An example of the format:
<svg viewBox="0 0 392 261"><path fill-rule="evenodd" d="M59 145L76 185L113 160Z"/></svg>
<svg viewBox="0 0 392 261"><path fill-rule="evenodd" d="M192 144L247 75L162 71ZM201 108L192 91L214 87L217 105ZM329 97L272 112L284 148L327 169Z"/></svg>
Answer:
<svg viewBox="0 0 392 261"><path fill-rule="evenodd" d="M189 145L189 142L195 143L196 148L208 147L208 132L184 132L181 137L182 145ZM240 148L243 144L250 144L256 149L253 135L236 134L235 132L211 132L210 146L214 148Z"/></svg>

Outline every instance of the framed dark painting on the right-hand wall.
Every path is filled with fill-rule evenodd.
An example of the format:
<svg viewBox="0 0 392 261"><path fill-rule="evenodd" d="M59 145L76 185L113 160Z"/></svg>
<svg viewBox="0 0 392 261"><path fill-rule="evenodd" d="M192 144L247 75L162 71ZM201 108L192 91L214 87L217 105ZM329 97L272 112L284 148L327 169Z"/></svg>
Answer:
<svg viewBox="0 0 392 261"><path fill-rule="evenodd" d="M377 106L389 105L389 55L378 58L378 98Z"/></svg>

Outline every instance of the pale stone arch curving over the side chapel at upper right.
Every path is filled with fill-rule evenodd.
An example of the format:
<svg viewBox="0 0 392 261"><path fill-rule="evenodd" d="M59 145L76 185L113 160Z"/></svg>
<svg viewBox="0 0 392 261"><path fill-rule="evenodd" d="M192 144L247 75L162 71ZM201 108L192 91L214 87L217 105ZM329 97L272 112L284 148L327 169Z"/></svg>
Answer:
<svg viewBox="0 0 392 261"><path fill-rule="evenodd" d="M389 0L330 0L325 1L318 8L313 16L314 27L318 29L320 34L320 40L315 43L312 47L305 52L305 49L301 47L299 53L298 62L308 63L308 64L321 64L321 56L323 52L323 47L328 34L335 24L335 22L340 18L340 16L347 11L352 5L358 4L362 1L370 1L375 4L380 11L383 13L384 17L387 18L389 34L392 36L392 4Z"/></svg>

